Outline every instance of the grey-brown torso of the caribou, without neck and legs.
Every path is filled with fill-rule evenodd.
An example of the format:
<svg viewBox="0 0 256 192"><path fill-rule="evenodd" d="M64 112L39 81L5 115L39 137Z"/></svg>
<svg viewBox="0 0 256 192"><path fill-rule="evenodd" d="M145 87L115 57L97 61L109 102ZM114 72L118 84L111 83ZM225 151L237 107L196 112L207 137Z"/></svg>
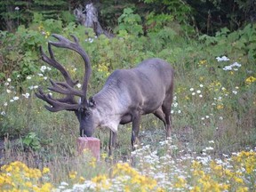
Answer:
<svg viewBox="0 0 256 192"><path fill-rule="evenodd" d="M115 70L101 92L111 92L124 110L139 108L141 114L148 114L172 94L172 79L171 65L154 58L142 61L136 68Z"/></svg>

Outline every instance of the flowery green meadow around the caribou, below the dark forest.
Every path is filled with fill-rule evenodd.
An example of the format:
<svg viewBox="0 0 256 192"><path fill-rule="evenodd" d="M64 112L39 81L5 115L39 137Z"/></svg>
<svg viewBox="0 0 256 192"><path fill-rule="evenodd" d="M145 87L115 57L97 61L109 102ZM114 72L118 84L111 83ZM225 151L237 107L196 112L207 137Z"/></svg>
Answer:
<svg viewBox="0 0 256 192"><path fill-rule="evenodd" d="M54 26L54 28L52 28ZM215 36L189 37L180 28L148 36L125 30L114 38L60 20L0 32L0 188L3 191L253 191L256 188L256 25ZM50 113L35 92L47 90L57 70L40 60L52 33L78 37L92 60L93 95L116 68L159 57L175 69L172 137L164 124L143 116L140 145L131 150L132 125L120 125L114 156L108 130L99 128L101 160L76 152L75 114ZM74 79L84 65L75 53L54 49ZM78 87L77 87L78 89Z"/></svg>

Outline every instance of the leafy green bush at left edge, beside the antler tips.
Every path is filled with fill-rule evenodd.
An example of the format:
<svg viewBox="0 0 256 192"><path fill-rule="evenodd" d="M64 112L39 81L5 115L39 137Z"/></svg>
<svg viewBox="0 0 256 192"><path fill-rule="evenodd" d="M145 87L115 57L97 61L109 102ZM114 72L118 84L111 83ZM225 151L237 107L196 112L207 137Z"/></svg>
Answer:
<svg viewBox="0 0 256 192"><path fill-rule="evenodd" d="M39 31L26 29L24 26L20 26L16 34L2 32L1 36L4 46L0 48L3 58L0 70L4 71L5 76L0 81L11 77L20 84L36 71L39 45L44 44L45 38Z"/></svg>

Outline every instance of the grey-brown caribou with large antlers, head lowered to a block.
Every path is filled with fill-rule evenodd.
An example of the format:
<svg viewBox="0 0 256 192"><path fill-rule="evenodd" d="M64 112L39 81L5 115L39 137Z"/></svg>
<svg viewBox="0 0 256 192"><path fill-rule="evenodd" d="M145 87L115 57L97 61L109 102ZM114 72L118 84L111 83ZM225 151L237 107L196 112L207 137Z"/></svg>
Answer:
<svg viewBox="0 0 256 192"><path fill-rule="evenodd" d="M64 36L53 34L57 41L48 42L50 57L40 47L44 62L57 68L65 82L54 82L48 90L65 95L55 99L45 94L39 87L36 97L46 101L44 107L51 112L61 110L74 111L80 124L80 136L92 137L97 127L110 129L108 154L116 146L116 132L119 124L132 122L132 148L138 140L140 118L142 115L154 114L165 126L166 137L171 136L171 107L173 95L173 68L169 63L158 58L142 61L137 67L116 69L100 92L87 99L87 87L92 74L91 62L76 36L70 41ZM82 89L76 89L78 80L73 81L68 71L55 60L52 46L66 48L77 52L84 60L84 81ZM77 100L77 97L79 100Z"/></svg>

